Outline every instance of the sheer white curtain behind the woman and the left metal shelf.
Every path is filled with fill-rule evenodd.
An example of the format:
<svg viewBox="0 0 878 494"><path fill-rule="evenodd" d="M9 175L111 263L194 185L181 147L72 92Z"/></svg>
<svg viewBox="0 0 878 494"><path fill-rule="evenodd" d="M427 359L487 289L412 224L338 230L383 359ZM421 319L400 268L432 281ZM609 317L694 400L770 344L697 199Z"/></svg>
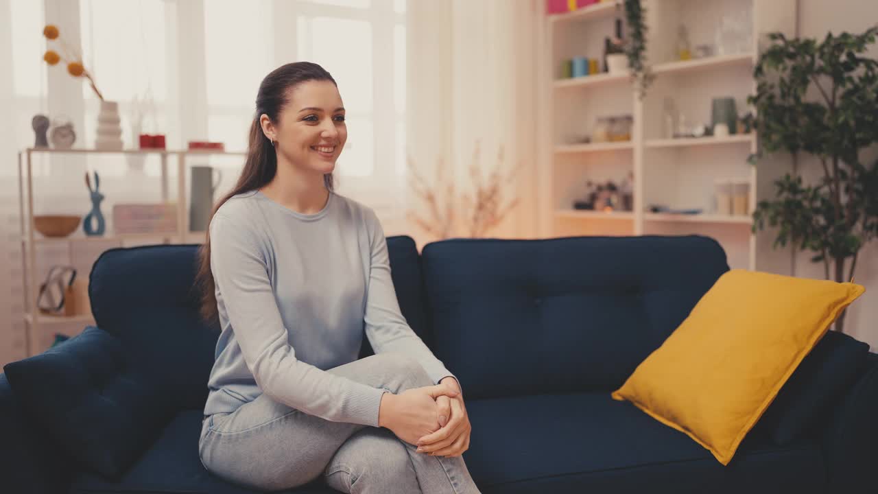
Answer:
<svg viewBox="0 0 878 494"><path fill-rule="evenodd" d="M104 97L119 101L126 148L136 147L142 131L166 134L172 149L211 140L241 150L263 76L286 62L320 63L348 109L339 192L375 207L388 235L407 231L406 0L0 0L0 62L9 68L0 71L0 365L24 356L17 151L32 146L36 113L71 120L77 148L93 147L97 127L98 100L88 85L42 62L46 24L58 25L83 54ZM161 199L157 157L35 163L36 214L87 213L86 170L101 175L108 220L114 202ZM227 156L190 163L222 169L218 194L241 169L240 158ZM169 171L174 187L176 167ZM37 280L61 263L87 276L97 255L115 245L40 245Z"/></svg>

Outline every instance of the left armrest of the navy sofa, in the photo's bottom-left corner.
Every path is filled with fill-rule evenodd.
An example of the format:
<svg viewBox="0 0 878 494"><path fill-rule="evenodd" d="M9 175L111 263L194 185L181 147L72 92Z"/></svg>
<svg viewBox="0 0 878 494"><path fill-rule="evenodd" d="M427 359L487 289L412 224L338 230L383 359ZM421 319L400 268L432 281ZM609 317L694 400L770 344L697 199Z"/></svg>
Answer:
<svg viewBox="0 0 878 494"><path fill-rule="evenodd" d="M71 472L47 434L28 420L0 374L0 484L4 492L67 492Z"/></svg>

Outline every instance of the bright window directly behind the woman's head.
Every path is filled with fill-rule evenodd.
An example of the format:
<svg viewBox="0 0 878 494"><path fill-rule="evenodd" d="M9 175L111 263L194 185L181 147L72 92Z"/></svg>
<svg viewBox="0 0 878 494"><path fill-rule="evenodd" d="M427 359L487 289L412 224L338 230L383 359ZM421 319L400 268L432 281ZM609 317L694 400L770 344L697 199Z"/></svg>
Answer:
<svg viewBox="0 0 878 494"><path fill-rule="evenodd" d="M336 168L340 189L386 190L405 170L405 6L405 0L205 2L209 138L245 149L262 78L287 62L316 62L335 78L347 110L348 142Z"/></svg>

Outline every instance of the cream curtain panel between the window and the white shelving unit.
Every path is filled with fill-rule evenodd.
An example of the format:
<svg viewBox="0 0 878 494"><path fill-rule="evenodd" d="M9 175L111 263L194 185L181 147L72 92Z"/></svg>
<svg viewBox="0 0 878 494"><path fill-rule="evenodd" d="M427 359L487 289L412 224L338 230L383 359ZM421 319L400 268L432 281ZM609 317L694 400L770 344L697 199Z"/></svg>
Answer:
<svg viewBox="0 0 878 494"><path fill-rule="evenodd" d="M536 63L539 0L412 2L408 11L408 148L417 170L435 177L440 160L471 191L470 165L488 171L521 165L515 185L518 207L496 237L536 236ZM498 149L505 160L497 163ZM413 208L423 208L413 200ZM460 210L460 209L458 209ZM416 230L413 230L416 231ZM457 234L465 235L458 224ZM419 244L432 238L421 233Z"/></svg>

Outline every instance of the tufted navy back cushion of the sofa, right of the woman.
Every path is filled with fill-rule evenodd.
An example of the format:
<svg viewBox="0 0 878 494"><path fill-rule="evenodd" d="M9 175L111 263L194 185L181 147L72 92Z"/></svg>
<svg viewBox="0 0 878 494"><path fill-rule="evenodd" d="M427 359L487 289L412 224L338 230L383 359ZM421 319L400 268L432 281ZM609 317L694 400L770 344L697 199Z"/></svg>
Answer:
<svg viewBox="0 0 878 494"><path fill-rule="evenodd" d="M421 260L434 352L469 398L612 391L729 269L702 236L457 239Z"/></svg>

